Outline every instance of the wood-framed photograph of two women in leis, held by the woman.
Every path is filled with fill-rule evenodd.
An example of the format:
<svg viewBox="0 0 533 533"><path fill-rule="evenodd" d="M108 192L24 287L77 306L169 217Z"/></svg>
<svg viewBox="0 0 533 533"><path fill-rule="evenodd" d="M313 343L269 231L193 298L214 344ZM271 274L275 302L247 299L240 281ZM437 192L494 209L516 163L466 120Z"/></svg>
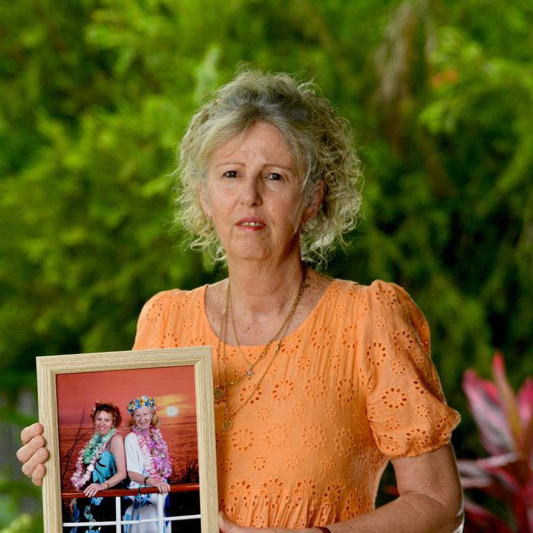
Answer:
<svg viewBox="0 0 533 533"><path fill-rule="evenodd" d="M37 392L45 533L218 533L209 347L37 357Z"/></svg>

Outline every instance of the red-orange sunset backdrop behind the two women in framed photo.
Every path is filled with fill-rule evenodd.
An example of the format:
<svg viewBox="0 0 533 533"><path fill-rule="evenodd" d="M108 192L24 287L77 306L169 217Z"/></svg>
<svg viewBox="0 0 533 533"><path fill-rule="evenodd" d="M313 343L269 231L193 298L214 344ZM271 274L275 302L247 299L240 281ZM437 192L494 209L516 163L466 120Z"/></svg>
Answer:
<svg viewBox="0 0 533 533"><path fill-rule="evenodd" d="M174 471L198 459L194 366L58 374L56 383L62 489L69 487L78 452L93 432L90 413L96 401L119 407L119 432L126 437L128 402L143 394L153 397Z"/></svg>

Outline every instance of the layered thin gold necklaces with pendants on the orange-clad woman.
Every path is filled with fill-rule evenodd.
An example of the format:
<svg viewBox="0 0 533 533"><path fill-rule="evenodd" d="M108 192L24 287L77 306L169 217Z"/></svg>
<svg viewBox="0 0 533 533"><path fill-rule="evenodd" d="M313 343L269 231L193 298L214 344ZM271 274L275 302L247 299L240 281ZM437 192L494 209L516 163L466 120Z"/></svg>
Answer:
<svg viewBox="0 0 533 533"><path fill-rule="evenodd" d="M217 387L214 389L214 398L219 402L220 400L224 401L224 422L222 424L222 428L226 431L229 431L233 425L233 419L235 416L237 416L237 413L248 404L248 402L251 400L253 395L255 394L255 391L259 389L260 385L262 384L265 376L267 375L268 371L270 370L274 360L276 359L276 356L278 355L281 344L282 344L282 338L285 335L285 332L287 332L287 329L289 328L289 325L294 317L294 313L296 312L296 307L298 307L298 303L300 303L303 292L305 291L305 266L303 269L303 276L302 276L302 282L300 285L300 290L298 291L298 294L296 295L296 298L294 299L294 303L291 306L291 309L289 310L289 314L287 314L287 317L285 318L285 321L283 321L281 328L276 332L276 335L274 335L267 345L263 348L262 352L260 353L259 357L257 357L257 361L255 361L254 364L251 364L248 370L244 375L239 377L237 380L229 382L227 380L226 375L226 338L228 333L228 303L230 301L230 280L228 278L228 285L226 286L226 302L224 303L223 310L222 310L222 317L221 317L221 324L220 324L220 335L219 335L219 341L217 344ZM253 375L253 369L255 369L255 366L257 363L259 363L262 359L264 359L265 355L267 355L269 348L273 341L276 339L276 337L280 337L278 340L278 344L276 345L276 348L274 350L274 353L272 355L272 358L267 365L267 368L264 370L264 373L260 377L260 379L257 381L257 383L254 385L253 389L251 390L250 394L244 399L244 401L237 407L237 409L232 410L230 409L230 404L228 400L228 394L229 389L232 387L232 385L237 384L238 382L242 381L245 376L248 376L248 378L251 378ZM221 344L221 338L223 338L223 346L222 346L222 357L220 357L220 344ZM237 341L237 338L235 338ZM220 383L220 359L222 359L222 367L223 367L223 375L224 375L224 384L221 385Z"/></svg>

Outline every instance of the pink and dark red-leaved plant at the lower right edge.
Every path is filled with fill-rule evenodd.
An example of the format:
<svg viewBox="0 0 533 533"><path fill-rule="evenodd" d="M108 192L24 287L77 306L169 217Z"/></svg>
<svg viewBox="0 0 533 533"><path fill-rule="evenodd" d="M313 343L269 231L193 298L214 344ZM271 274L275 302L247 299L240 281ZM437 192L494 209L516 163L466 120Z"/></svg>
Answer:
<svg viewBox="0 0 533 533"><path fill-rule="evenodd" d="M459 473L464 489L480 489L507 505L514 525L466 500L465 532L533 533L533 380L526 378L515 394L500 353L492 372L493 381L464 373L463 389L490 457L459 461Z"/></svg>

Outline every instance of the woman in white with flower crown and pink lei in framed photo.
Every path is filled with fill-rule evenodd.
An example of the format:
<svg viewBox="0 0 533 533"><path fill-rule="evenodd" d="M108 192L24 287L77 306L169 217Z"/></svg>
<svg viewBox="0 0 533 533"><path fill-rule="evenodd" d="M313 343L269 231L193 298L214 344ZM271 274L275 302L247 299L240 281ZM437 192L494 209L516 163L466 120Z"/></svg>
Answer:
<svg viewBox="0 0 533 533"><path fill-rule="evenodd" d="M139 487L157 487L162 494L167 494L170 485L167 480L171 475L171 462L167 443L158 429L158 415L155 414L155 400L150 396L140 396L128 403L131 432L126 437L126 465L130 477L130 489ZM131 498L132 502L124 520L143 520L157 518L157 495L139 494ZM165 498L168 507L169 498ZM164 532L171 532L171 523L167 522ZM125 525L125 533L157 533L158 523Z"/></svg>

